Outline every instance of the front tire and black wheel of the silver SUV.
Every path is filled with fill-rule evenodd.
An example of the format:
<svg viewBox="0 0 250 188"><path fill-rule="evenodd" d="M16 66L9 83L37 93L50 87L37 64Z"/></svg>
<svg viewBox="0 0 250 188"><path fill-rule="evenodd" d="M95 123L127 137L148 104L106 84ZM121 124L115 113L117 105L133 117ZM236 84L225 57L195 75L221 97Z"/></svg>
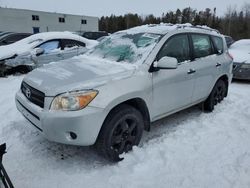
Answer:
<svg viewBox="0 0 250 188"><path fill-rule="evenodd" d="M144 130L141 113L130 105L122 104L106 118L97 138L95 148L104 158L117 162L119 155L139 144Z"/></svg>

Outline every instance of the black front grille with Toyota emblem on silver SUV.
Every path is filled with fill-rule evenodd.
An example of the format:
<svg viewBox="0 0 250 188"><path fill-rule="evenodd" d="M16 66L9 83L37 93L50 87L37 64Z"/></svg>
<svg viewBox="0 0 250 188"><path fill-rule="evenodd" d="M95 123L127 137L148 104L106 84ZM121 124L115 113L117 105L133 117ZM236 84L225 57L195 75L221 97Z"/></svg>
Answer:
<svg viewBox="0 0 250 188"><path fill-rule="evenodd" d="M44 108L44 98L45 94L25 82L22 82L21 84L21 90L24 96L32 103L40 106L41 108Z"/></svg>

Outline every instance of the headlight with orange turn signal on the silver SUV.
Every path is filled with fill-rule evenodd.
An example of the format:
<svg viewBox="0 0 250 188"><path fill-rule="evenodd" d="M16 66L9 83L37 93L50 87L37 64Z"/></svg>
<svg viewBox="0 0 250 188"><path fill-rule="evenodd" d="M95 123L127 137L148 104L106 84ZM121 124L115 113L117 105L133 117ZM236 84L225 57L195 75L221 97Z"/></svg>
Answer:
<svg viewBox="0 0 250 188"><path fill-rule="evenodd" d="M54 98L50 109L76 111L85 108L98 94L98 91L87 90L64 93Z"/></svg>

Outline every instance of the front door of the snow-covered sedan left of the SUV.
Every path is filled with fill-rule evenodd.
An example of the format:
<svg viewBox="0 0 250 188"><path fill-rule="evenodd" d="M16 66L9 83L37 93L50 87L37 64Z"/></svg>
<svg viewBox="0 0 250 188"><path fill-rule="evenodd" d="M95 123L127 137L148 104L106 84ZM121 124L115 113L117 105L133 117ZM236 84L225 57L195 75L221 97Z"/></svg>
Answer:
<svg viewBox="0 0 250 188"><path fill-rule="evenodd" d="M50 62L56 62L62 60L62 51L60 40L50 40L37 46L42 48L44 52L35 58L37 66L48 64Z"/></svg>

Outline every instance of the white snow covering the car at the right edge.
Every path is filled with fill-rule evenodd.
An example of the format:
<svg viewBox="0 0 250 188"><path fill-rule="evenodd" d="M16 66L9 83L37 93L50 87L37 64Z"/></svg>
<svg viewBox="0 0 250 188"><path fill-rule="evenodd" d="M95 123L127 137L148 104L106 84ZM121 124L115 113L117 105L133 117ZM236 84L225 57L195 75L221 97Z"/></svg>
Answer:
<svg viewBox="0 0 250 188"><path fill-rule="evenodd" d="M234 62L250 63L250 39L236 41L230 46L229 53L233 56Z"/></svg>

